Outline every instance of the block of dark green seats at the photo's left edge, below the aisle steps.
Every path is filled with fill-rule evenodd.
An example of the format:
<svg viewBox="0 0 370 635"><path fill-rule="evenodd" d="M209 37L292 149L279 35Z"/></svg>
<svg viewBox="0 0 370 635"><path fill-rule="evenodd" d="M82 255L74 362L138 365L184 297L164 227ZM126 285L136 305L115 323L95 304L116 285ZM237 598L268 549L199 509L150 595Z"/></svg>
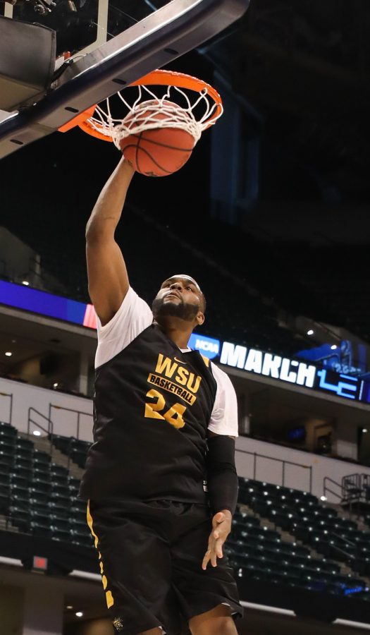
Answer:
<svg viewBox="0 0 370 635"><path fill-rule="evenodd" d="M79 480L0 422L0 514L24 533L92 546Z"/></svg>

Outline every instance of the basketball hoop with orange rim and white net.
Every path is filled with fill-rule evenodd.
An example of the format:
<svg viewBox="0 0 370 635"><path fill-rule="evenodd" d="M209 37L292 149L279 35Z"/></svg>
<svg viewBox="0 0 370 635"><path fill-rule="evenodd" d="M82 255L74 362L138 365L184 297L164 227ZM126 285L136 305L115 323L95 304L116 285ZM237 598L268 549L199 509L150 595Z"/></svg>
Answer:
<svg viewBox="0 0 370 635"><path fill-rule="evenodd" d="M138 91L135 91L136 96L130 103L127 89L135 86ZM159 86L164 87L163 95L157 94ZM59 128L59 131L66 132L79 126L85 133L104 141L113 141L121 149L122 140L129 135L138 135L150 129L178 128L190 133L195 145L202 132L214 126L223 113L221 97L211 85L174 71L152 71L119 90L117 97L125 108L123 117L113 117L111 98L107 97L105 108L101 105L92 106Z"/></svg>

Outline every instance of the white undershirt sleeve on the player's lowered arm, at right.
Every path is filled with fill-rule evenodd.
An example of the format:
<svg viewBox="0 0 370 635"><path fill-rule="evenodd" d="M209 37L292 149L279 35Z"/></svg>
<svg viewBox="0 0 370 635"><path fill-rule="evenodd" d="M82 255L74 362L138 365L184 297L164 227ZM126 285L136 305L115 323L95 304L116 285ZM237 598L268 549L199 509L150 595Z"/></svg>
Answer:
<svg viewBox="0 0 370 635"><path fill-rule="evenodd" d="M224 370L213 362L211 368L217 383L217 391L208 429L216 435L238 437L238 401L235 388Z"/></svg>

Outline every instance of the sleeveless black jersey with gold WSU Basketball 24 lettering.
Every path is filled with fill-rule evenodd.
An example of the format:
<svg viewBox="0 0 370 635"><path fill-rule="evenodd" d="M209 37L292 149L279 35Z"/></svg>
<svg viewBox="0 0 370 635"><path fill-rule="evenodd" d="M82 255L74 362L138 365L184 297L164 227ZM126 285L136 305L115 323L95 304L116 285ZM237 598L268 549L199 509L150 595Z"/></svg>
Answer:
<svg viewBox="0 0 370 635"><path fill-rule="evenodd" d="M94 442L80 496L206 503L206 430L216 397L209 360L155 324L99 366Z"/></svg>

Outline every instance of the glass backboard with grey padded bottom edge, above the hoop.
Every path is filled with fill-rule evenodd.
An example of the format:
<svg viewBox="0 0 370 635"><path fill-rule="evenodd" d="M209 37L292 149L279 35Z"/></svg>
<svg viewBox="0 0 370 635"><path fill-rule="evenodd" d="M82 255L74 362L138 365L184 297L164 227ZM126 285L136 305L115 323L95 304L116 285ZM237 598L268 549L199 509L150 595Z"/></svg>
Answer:
<svg viewBox="0 0 370 635"><path fill-rule="evenodd" d="M92 104L195 49L238 20L248 5L249 0L1 4L7 18L54 30L57 59L46 95L20 111L0 111L0 158L53 133Z"/></svg>

